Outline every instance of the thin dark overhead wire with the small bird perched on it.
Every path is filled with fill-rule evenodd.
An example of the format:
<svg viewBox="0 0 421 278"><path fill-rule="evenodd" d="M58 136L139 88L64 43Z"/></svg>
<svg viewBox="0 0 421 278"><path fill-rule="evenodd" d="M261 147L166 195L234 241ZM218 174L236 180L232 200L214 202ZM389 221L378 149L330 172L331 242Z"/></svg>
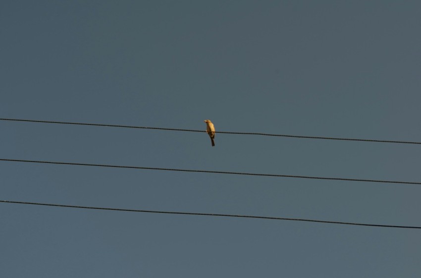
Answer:
<svg viewBox="0 0 421 278"><path fill-rule="evenodd" d="M43 123L59 123L59 124L76 124L76 125L94 125L94 126L124 127L124 128L141 128L141 129L159 129L159 130L188 131L188 132L206 132L204 130L195 130L195 129L146 127L146 126L119 125L119 124L65 122L65 121L32 120L32 119L0 119L0 120L26 121L26 122L43 122ZM342 141L363 141L363 142L381 142L381 143L399 143L399 144L419 144L419 145L421 145L421 142L409 142L409 141L371 140L371 139L354 139L354 138L335 138L335 137L320 137L320 136L301 136L301 135L270 134L270 133L257 133L257 132L216 131L215 133L242 134L242 135L263 135L263 136L277 136L277 137L290 137L290 138L307 138L307 139L325 139L325 140L342 140Z"/></svg>

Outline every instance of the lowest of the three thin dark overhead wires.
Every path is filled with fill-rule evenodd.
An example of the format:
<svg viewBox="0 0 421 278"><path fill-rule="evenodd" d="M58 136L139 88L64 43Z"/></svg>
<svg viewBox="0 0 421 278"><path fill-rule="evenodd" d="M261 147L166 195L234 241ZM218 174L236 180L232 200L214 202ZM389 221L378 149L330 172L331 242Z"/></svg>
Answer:
<svg viewBox="0 0 421 278"><path fill-rule="evenodd" d="M22 201L8 201L8 200L0 200L0 202L4 202L4 203L15 203L15 204L32 204L32 205L60 206L60 207L72 207L72 208L84 208L84 209L115 210L115 211L149 212L149 213L165 213L165 214L184 214L184 215L199 215L199 216L224 216L224 217L257 218L257 219L271 219L271 220L306 221L306 222L343 224L343 225L357 225L357 226L370 226L370 227L421 229L421 227L417 227L417 226L397 226L397 225L363 224L363 223L352 223L352 222L324 221L324 220L312 220L312 219L300 219L300 218L285 218L285 217L235 215L235 214L220 214L220 213L199 213L199 212L179 212L179 211L160 211L160 210L144 210L144 209L125 209L125 208L110 208L110 207L96 207L96 206L64 205L64 204L22 202Z"/></svg>

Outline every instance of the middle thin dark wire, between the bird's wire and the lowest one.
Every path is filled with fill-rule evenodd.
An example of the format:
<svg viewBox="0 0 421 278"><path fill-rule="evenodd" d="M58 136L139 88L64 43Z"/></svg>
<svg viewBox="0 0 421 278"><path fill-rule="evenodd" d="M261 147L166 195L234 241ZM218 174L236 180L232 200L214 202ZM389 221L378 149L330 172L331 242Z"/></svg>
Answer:
<svg viewBox="0 0 421 278"><path fill-rule="evenodd" d="M340 180L340 181L358 181L358 182L382 182L382 183L399 183L399 184L420 184L421 185L421 182L402 182L402 181L386 181L386 180L364 180L364 179L348 179L348 178L326 178L326 177L295 176L295 175L276 175L276 174L256 174L256 173L243 173L243 172L189 170L189 169L139 167L139 166L122 166L122 165L109 165L109 164L73 163L73 162L55 162L55 161L23 160L23 159L0 159L0 161L16 161L16 162L30 162L30 163L78 165L78 166L97 166L97 167L111 167L111 168L129 168L129 169L144 169L144 170L180 171L180 172L196 172L196 173L213 173L213 174L249 175L249 176L265 176L265 177L303 178L303 179L319 179L319 180Z"/></svg>

